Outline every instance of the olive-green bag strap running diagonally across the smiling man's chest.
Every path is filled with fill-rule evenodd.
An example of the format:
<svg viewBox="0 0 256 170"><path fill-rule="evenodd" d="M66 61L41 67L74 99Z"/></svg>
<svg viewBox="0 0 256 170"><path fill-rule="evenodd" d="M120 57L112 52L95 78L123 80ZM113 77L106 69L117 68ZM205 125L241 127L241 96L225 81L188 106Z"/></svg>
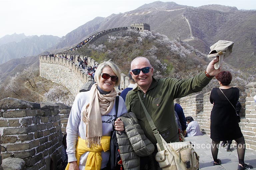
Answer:
<svg viewBox="0 0 256 170"><path fill-rule="evenodd" d="M152 131L153 131L153 133L154 133L154 135L155 135L155 138L156 138L156 140L157 140L157 143L159 144L160 149L161 149L161 150L164 150L163 142L162 142L162 139L161 139L160 134L159 134L159 132L158 132L158 129L156 128L156 126L155 126L155 124L154 124L152 118L150 117L150 115L149 115L149 113L148 113L148 111L147 111L147 109L146 109L144 103L142 102L142 99L141 99L141 97L140 97L139 91L138 91L138 96L139 96L139 99L140 99L140 103L141 103L141 105L142 105L142 107L143 107L143 110L144 110L144 112L145 112L146 118L147 118L147 120L148 120L148 123L149 123L150 127L152 128Z"/></svg>

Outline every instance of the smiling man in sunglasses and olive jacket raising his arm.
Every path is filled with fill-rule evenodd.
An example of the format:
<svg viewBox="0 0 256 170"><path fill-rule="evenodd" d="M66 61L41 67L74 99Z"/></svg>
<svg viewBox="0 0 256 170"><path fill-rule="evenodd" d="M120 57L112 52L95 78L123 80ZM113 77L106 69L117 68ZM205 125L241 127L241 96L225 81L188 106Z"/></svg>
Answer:
<svg viewBox="0 0 256 170"><path fill-rule="evenodd" d="M185 80L169 77L155 79L153 77L153 68L145 57L137 57L131 62L132 71L130 73L136 84L126 96L126 108L128 112L135 113L145 135L155 146L157 140L147 121L138 93L159 133L166 142L177 142L179 141L179 135L175 122L173 101L175 98L201 91L220 72L220 69L214 69L216 62L218 62L218 58L212 60L204 72ZM157 148L155 147L155 152L151 156L141 157L141 169L160 169L155 160L156 152Z"/></svg>

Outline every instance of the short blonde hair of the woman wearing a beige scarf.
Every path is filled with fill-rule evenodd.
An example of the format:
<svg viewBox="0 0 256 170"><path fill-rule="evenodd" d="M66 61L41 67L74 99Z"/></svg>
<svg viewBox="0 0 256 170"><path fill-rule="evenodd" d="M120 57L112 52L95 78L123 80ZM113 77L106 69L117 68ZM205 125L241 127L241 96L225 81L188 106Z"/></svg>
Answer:
<svg viewBox="0 0 256 170"><path fill-rule="evenodd" d="M118 68L118 66L115 63L113 63L111 60L101 61L101 63L98 65L98 67L95 71L95 75L94 75L95 82L99 83L102 70L106 66L110 67L113 70L113 72L115 73L115 75L118 77L118 80L115 83L115 86L118 87L120 84L120 81L121 81L121 73L120 73L121 71Z"/></svg>

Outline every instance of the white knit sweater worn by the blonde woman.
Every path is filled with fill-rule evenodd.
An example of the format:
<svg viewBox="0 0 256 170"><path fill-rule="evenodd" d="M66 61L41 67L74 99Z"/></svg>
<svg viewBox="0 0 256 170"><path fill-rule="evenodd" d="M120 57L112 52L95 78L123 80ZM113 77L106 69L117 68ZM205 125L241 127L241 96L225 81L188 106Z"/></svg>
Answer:
<svg viewBox="0 0 256 170"><path fill-rule="evenodd" d="M86 126L82 120L81 111L82 111L82 108L89 103L89 98L90 98L89 94L90 94L89 91L79 93L76 96L73 106L71 108L71 112L68 118L68 124L66 128L66 132L67 132L67 150L66 151L68 155L68 162L77 160L75 156L77 137L80 136L82 139L85 139ZM127 113L125 103L123 98L119 97L117 117L120 117L124 113ZM101 116L102 136L110 136L110 132L113 127L112 120L115 119L115 115L116 115L116 109L115 109L115 103L114 103L110 113L107 115ZM85 152L80 157L79 165L85 165L88 154L89 152ZM102 151L101 156L102 156L101 168L104 168L106 167L108 162L109 152ZM80 168L82 168L82 166L79 166L79 169Z"/></svg>

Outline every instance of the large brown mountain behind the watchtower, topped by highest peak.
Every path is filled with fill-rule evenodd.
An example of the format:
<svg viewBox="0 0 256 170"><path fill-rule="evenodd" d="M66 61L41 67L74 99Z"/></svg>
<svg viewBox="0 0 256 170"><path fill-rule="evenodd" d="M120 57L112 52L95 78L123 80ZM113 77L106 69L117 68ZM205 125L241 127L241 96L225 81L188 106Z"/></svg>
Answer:
<svg viewBox="0 0 256 170"><path fill-rule="evenodd" d="M55 47L70 47L96 32L132 23L148 23L151 31L171 40L179 37L205 54L218 40L233 41L233 53L225 61L237 68L256 66L256 11L223 5L191 7L156 1L133 11L97 17L67 34Z"/></svg>

